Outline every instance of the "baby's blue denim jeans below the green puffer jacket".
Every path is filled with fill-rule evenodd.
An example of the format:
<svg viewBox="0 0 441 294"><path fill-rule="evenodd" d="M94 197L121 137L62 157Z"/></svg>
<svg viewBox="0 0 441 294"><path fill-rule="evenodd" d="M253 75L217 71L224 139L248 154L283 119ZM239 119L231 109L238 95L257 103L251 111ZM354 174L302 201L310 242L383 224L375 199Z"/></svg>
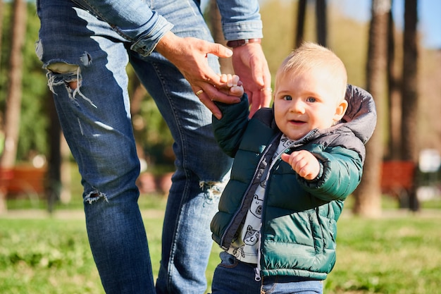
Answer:
<svg viewBox="0 0 441 294"><path fill-rule="evenodd" d="M322 294L322 281L290 276L263 276L254 280L255 265L221 252L211 284L212 294Z"/></svg>

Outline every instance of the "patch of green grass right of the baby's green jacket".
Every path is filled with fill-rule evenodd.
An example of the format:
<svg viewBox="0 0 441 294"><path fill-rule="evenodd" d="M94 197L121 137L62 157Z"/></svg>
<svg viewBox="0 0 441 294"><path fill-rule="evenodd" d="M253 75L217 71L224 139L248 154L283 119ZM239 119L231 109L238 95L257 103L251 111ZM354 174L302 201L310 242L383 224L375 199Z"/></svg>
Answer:
<svg viewBox="0 0 441 294"><path fill-rule="evenodd" d="M325 293L441 293L441 217L340 220Z"/></svg>

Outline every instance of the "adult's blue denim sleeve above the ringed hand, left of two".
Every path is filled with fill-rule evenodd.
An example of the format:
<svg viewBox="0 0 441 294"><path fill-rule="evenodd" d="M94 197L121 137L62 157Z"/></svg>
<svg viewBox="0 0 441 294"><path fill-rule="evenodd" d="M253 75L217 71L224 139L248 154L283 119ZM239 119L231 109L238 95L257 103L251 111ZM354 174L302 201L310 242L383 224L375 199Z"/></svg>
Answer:
<svg viewBox="0 0 441 294"><path fill-rule="evenodd" d="M111 25L132 43L130 49L147 56L173 25L142 0L72 0ZM142 11L140 13L139 11Z"/></svg>

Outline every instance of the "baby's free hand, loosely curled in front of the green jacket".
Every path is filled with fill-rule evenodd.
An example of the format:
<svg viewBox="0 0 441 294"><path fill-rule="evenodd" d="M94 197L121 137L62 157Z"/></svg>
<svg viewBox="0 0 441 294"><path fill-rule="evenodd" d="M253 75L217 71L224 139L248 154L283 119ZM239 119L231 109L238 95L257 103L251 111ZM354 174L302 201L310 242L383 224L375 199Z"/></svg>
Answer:
<svg viewBox="0 0 441 294"><path fill-rule="evenodd" d="M320 172L320 164L316 157L306 150L282 154L282 160L290 164L292 169L306 180L313 180Z"/></svg>

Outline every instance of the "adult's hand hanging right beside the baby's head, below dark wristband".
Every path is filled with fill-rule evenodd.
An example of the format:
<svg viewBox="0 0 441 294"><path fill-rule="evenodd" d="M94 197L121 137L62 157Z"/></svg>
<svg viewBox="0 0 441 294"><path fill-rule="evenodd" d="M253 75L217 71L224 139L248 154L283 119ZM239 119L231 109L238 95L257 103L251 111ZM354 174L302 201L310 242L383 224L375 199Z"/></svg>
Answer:
<svg viewBox="0 0 441 294"><path fill-rule="evenodd" d="M248 95L249 116L271 103L271 74L261 44L248 43L233 49L232 66Z"/></svg>

